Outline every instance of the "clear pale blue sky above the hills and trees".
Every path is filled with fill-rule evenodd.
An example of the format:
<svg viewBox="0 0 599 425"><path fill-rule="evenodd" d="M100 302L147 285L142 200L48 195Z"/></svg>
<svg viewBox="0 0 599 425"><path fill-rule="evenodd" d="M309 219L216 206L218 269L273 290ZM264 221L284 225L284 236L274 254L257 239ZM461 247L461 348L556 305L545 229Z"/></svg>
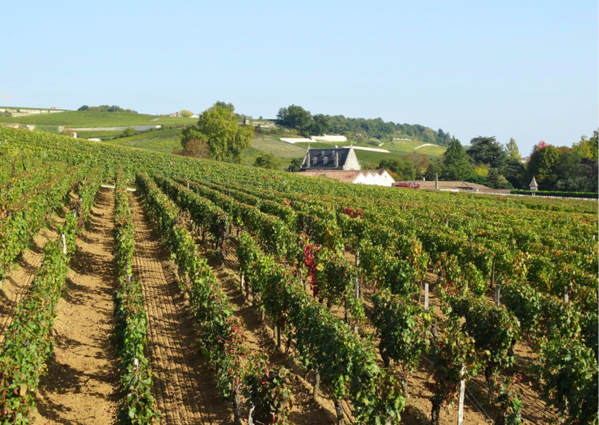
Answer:
<svg viewBox="0 0 599 425"><path fill-rule="evenodd" d="M522 154L599 125L596 0L6 1L0 19L7 106L296 104Z"/></svg>

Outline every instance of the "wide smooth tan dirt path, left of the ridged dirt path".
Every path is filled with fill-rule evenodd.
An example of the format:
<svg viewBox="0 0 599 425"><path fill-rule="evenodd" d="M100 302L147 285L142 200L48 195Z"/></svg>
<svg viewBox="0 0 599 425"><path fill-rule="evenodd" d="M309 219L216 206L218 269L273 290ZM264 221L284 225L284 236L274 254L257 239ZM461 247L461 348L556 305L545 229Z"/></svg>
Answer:
<svg viewBox="0 0 599 425"><path fill-rule="evenodd" d="M112 335L114 193L101 189L77 241L56 308L54 355L38 391L37 424L114 424L119 372Z"/></svg>

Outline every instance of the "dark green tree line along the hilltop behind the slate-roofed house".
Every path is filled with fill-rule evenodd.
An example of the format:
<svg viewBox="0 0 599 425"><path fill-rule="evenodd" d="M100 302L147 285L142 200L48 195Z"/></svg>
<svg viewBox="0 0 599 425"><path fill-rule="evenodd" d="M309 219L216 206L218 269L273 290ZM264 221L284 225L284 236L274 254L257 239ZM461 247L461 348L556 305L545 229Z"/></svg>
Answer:
<svg viewBox="0 0 599 425"><path fill-rule="evenodd" d="M435 131L419 124L400 124L383 121L382 118L347 118L343 115L311 114L302 106L291 105L280 108L277 123L303 136L321 136L323 134L343 134L348 139L366 142L371 138L379 141L393 141L393 136L419 137L424 143L448 146L454 138L447 132Z"/></svg>

